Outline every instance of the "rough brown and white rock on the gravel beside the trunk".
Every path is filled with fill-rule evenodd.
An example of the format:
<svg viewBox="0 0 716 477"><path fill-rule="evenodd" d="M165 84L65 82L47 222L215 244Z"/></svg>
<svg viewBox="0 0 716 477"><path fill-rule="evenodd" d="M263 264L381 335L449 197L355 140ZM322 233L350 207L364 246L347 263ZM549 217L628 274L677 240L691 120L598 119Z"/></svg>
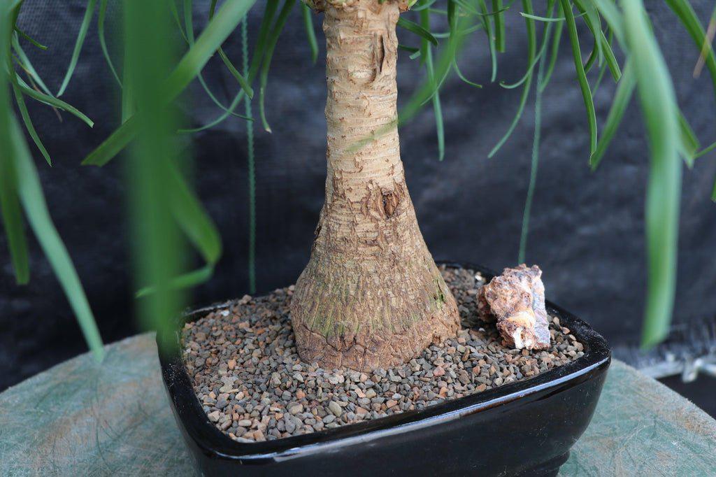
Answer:
<svg viewBox="0 0 716 477"><path fill-rule="evenodd" d="M542 271L521 264L504 269L478 292L478 313L485 322L497 322L509 346L543 350L549 347Z"/></svg>

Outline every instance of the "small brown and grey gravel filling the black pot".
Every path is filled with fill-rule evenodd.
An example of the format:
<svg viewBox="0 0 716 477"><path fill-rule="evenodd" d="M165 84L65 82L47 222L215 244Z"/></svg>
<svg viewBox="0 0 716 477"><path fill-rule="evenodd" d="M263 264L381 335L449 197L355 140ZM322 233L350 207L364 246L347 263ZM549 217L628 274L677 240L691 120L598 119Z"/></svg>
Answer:
<svg viewBox="0 0 716 477"><path fill-rule="evenodd" d="M186 324L183 357L208 419L235 440L274 440L424 409L584 355L556 317L550 317L548 350L503 346L495 325L477 318L483 277L469 269L440 271L458 301L463 329L387 370L324 370L301 362L289 317L293 286L243 297Z"/></svg>

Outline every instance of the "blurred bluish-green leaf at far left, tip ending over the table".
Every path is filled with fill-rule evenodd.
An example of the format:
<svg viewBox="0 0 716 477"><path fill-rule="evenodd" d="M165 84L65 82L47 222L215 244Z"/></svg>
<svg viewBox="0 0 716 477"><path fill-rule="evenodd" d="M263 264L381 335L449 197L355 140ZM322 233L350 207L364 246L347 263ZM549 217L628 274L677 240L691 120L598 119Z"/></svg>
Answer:
<svg viewBox="0 0 716 477"><path fill-rule="evenodd" d="M17 165L17 181L20 202L24 208L27 221L34 231L35 237L44 251L54 274L59 280L59 284L64 290L64 294L69 300L74 316L77 317L79 327L84 334L84 340L89 345L89 349L95 355L97 360L102 360L105 351L102 347L102 338L100 331L97 329L95 317L92 309L89 308L87 296L74 269L72 259L69 258L67 249L59 237L57 229L54 228L52 218L47 211L47 203L45 203L42 194L42 186L40 186L37 169L32 162L27 145L22 136L22 131L15 121L12 122L13 127L13 148Z"/></svg>

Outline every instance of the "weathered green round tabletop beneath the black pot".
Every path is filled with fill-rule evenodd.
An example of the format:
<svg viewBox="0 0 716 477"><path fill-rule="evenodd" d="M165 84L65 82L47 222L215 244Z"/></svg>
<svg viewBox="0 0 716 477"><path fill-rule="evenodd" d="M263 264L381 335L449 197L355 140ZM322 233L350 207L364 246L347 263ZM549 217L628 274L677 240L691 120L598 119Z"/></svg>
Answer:
<svg viewBox="0 0 716 477"><path fill-rule="evenodd" d="M194 473L153 336L107 346L0 394L0 476ZM716 421L619 361L563 476L715 476Z"/></svg>

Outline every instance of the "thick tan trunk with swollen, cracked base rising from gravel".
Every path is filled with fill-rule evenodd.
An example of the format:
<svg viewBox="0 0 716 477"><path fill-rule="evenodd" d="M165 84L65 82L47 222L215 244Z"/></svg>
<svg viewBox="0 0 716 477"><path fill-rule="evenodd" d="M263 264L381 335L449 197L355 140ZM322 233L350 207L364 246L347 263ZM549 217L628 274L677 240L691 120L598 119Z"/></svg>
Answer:
<svg viewBox="0 0 716 477"><path fill-rule="evenodd" d="M328 175L291 319L301 359L402 364L459 327L405 185L397 127L395 0L314 1L325 12ZM371 138L374 135L374 138Z"/></svg>

